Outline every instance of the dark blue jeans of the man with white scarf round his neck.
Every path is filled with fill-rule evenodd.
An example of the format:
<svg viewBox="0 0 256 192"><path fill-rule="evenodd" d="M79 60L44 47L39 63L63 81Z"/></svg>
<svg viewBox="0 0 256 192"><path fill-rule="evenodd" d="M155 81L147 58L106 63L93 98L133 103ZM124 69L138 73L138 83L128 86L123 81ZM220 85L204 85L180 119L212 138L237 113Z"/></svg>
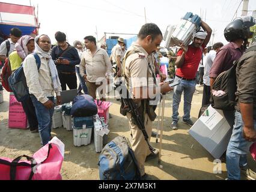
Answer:
<svg viewBox="0 0 256 192"><path fill-rule="evenodd" d="M35 98L34 95L31 95L30 97L35 107L35 113L37 114L38 131L41 138L41 145L46 145L50 141L50 131L52 131L52 115L54 112L54 107L52 107L52 109L47 109L41 102L37 101L37 98ZM54 97L48 98L53 102Z"/></svg>

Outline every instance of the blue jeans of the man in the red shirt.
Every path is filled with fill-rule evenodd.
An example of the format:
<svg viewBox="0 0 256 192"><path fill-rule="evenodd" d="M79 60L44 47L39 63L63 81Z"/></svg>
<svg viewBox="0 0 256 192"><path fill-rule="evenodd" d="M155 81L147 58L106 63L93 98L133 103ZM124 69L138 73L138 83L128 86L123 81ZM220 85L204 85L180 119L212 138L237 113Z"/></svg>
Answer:
<svg viewBox="0 0 256 192"><path fill-rule="evenodd" d="M191 102L195 92L195 80L183 80L176 76L175 81L180 82L180 84L177 86L174 86L174 94L173 94L173 101L172 101L172 121L178 122L178 106L180 104L181 94L183 91L184 91L183 120L189 120Z"/></svg>

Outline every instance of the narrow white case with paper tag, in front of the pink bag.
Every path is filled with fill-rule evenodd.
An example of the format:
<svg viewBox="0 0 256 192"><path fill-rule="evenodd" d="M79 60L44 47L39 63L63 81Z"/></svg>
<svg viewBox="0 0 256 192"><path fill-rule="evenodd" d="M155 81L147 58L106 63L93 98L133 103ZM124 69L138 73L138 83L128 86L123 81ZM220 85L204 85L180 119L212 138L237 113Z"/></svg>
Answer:
<svg viewBox="0 0 256 192"><path fill-rule="evenodd" d="M106 144L107 135L109 133L108 125L105 124L105 119L99 117L99 115L94 115L94 146L96 152L101 152L103 145Z"/></svg>

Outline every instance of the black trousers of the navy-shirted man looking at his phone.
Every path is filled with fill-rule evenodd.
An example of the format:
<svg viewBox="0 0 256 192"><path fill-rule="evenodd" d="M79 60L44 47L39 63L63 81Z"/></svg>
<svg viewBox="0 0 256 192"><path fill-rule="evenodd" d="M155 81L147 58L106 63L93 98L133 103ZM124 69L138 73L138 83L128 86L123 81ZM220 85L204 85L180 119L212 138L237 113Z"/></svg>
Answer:
<svg viewBox="0 0 256 192"><path fill-rule="evenodd" d="M59 74L59 81L61 82L62 91L67 90L67 86L69 86L69 89L78 88L78 84L76 83L76 73L64 74L59 72L58 74Z"/></svg>

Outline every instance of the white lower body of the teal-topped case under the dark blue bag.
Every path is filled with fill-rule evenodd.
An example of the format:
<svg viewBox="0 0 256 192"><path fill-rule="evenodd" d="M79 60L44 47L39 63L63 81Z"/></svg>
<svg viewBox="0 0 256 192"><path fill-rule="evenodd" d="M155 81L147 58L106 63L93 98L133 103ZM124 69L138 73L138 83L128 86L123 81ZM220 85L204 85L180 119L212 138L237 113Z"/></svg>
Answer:
<svg viewBox="0 0 256 192"><path fill-rule="evenodd" d="M88 145L91 143L91 132L93 128L73 127L73 143L75 146Z"/></svg>

